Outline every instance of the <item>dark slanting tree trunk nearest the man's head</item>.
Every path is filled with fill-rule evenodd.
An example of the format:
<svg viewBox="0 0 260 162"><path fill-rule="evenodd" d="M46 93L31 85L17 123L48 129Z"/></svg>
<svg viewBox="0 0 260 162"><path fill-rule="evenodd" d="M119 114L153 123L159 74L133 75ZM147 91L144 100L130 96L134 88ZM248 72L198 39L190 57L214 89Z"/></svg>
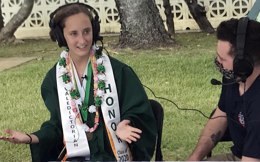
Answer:
<svg viewBox="0 0 260 162"><path fill-rule="evenodd" d="M206 17L205 7L198 5L197 0L185 0L185 2L201 31L205 33L215 33L214 28Z"/></svg>

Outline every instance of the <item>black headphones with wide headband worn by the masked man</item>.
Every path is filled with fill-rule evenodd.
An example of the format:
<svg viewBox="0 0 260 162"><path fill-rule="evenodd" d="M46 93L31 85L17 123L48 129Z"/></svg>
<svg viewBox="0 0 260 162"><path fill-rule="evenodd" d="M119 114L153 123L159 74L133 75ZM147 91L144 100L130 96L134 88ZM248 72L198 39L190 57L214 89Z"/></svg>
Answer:
<svg viewBox="0 0 260 162"><path fill-rule="evenodd" d="M249 77L254 70L253 58L244 53L245 47L245 35L247 30L248 17L242 17L238 21L237 25L237 55L233 60L234 74L239 76L245 83L247 77Z"/></svg>

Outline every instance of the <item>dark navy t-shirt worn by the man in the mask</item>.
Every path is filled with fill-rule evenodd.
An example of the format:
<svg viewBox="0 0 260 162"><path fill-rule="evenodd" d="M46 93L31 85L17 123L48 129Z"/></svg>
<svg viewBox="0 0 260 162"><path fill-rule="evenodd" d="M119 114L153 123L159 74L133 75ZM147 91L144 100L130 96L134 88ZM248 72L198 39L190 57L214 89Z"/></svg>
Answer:
<svg viewBox="0 0 260 162"><path fill-rule="evenodd" d="M223 83L230 83L223 77ZM245 100L245 103L243 102ZM218 107L227 114L229 132L234 145L232 153L260 159L260 75L243 94L239 95L239 84L223 85Z"/></svg>

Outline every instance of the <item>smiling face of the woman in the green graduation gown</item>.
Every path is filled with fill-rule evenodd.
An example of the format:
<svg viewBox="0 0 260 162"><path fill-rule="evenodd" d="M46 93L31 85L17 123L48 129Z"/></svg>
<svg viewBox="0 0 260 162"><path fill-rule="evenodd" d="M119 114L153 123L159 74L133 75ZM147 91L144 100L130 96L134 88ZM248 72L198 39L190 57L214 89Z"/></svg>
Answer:
<svg viewBox="0 0 260 162"><path fill-rule="evenodd" d="M87 15L79 13L68 17L65 20L63 34L71 55L83 57L89 54L92 45L92 26Z"/></svg>

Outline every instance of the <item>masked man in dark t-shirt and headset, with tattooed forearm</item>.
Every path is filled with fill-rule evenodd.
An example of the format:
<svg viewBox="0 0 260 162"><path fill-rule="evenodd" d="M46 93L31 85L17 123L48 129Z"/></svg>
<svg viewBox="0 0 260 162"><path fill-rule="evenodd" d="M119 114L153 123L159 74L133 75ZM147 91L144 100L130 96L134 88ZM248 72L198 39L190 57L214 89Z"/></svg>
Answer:
<svg viewBox="0 0 260 162"><path fill-rule="evenodd" d="M218 107L205 125L187 161L201 161L229 131L232 153L206 161L260 161L260 23L247 17L223 21L217 28L215 64L223 74ZM222 117L217 117L222 116ZM215 118L217 117L217 118ZM228 127L228 129L227 129Z"/></svg>

